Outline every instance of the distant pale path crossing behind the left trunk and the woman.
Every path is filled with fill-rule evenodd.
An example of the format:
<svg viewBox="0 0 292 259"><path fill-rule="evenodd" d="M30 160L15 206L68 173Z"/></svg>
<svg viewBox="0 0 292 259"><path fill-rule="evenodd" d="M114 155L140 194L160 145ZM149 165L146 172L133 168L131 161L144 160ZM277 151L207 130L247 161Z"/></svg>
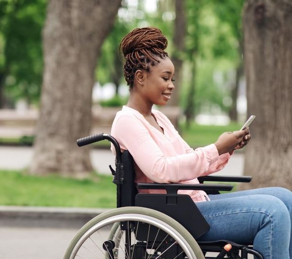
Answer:
<svg viewBox="0 0 292 259"><path fill-rule="evenodd" d="M29 166L33 156L31 147L0 146L0 169L19 170ZM91 162L93 168L99 173L110 173L109 165L114 166L114 155L110 150L91 150ZM234 154L227 166L216 174L242 175L244 155Z"/></svg>

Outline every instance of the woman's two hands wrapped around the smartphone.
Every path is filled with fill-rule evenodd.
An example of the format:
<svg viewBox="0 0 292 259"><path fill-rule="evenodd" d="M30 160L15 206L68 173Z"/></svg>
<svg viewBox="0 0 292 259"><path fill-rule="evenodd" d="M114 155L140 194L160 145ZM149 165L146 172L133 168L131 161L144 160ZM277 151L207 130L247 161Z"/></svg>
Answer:
<svg viewBox="0 0 292 259"><path fill-rule="evenodd" d="M243 148L249 140L251 135L249 129L234 131L234 132L224 132L215 142L219 155L230 153L232 154L235 149Z"/></svg>

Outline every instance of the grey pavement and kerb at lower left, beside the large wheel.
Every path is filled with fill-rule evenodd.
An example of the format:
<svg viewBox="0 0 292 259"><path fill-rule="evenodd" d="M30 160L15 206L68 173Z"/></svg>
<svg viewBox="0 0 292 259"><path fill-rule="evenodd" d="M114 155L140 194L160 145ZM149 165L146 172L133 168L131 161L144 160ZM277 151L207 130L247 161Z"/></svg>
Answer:
<svg viewBox="0 0 292 259"><path fill-rule="evenodd" d="M106 210L0 206L0 259L62 259L81 226Z"/></svg>

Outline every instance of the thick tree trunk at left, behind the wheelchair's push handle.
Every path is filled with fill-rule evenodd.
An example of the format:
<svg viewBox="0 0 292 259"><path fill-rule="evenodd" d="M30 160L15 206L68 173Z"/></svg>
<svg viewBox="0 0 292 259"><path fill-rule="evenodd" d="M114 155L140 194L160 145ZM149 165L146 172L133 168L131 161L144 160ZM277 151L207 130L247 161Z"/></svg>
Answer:
<svg viewBox="0 0 292 259"><path fill-rule="evenodd" d="M89 148L76 139L91 129L91 92L101 45L121 0L50 0L43 31L44 73L30 172L83 177Z"/></svg>

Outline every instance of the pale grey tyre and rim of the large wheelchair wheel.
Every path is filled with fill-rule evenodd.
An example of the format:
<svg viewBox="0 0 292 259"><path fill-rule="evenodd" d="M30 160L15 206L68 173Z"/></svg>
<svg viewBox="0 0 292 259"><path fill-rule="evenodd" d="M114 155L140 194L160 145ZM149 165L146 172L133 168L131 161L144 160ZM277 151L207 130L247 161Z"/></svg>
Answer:
<svg viewBox="0 0 292 259"><path fill-rule="evenodd" d="M161 224L158 227L166 227L166 229L168 230L163 230L170 236L172 236L171 233L179 235L180 240L176 239L176 241L178 243L182 242L182 244L187 247L187 250L183 250L185 252L189 251L189 254L191 255L189 259L204 259L198 243L180 223L162 212L145 207L115 208L96 216L87 224L85 224L75 235L65 253L64 259L73 259L75 257L75 254L77 253L79 247L92 235L92 233L94 233L94 231L96 231L94 230L94 227L96 227L97 224L103 224L103 222L111 219L115 220L115 218L117 217L119 217L119 220L117 220L117 222L122 221L120 217L122 217L125 221L131 221L131 219L128 218L133 215L135 217L138 217L139 221L141 222L145 222L145 220L150 220L153 225L158 223ZM114 223L114 221L112 223ZM168 233L167 231L170 231L170 233Z"/></svg>

